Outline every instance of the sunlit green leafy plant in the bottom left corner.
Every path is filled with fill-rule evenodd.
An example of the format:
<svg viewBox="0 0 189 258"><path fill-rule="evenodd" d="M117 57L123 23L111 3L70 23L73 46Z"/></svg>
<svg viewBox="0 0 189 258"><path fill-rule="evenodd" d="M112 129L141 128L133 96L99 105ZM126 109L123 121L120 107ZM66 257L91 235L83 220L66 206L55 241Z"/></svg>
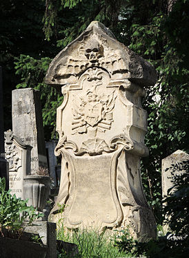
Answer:
<svg viewBox="0 0 189 258"><path fill-rule="evenodd" d="M6 179L0 178L0 232L7 229L15 233L23 230L23 222L27 219L28 225L34 219L42 216L32 206L27 206L28 200L17 199L11 195L10 190L6 191Z"/></svg>

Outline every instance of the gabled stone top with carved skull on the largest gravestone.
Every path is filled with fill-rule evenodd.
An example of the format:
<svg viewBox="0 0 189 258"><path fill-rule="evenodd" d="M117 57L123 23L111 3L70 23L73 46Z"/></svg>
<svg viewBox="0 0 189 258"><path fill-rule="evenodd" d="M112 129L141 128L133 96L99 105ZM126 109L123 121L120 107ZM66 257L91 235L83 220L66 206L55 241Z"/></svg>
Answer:
<svg viewBox="0 0 189 258"><path fill-rule="evenodd" d="M101 67L111 80L128 79L141 86L155 85L154 67L119 43L102 23L92 21L88 28L65 47L50 63L45 82L61 87L77 80L86 69Z"/></svg>

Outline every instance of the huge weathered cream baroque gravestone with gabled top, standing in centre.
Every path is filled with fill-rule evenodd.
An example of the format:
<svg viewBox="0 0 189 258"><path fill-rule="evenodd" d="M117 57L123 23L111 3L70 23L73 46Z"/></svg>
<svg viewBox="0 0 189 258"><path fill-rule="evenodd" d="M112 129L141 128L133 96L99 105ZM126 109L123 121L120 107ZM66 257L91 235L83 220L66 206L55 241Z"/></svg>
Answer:
<svg viewBox="0 0 189 258"><path fill-rule="evenodd" d="M52 61L46 83L60 88L57 109L61 184L51 219L67 228L130 226L135 237L155 237L155 218L143 194L140 158L146 111L143 86L153 67L94 21Z"/></svg>

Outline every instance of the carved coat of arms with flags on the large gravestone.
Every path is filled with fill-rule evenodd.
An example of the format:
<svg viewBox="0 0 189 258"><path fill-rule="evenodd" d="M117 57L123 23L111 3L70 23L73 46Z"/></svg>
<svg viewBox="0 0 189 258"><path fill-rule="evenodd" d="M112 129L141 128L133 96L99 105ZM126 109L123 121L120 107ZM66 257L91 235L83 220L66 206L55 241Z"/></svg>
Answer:
<svg viewBox="0 0 189 258"><path fill-rule="evenodd" d="M110 130L113 122L112 112L117 98L115 90L110 94L98 92L103 85L101 80L94 76L95 71L92 72L93 76L90 75L88 78L88 80L94 80L92 86L86 90L85 94L75 94L73 98L72 134L87 133L89 127L104 132Z"/></svg>

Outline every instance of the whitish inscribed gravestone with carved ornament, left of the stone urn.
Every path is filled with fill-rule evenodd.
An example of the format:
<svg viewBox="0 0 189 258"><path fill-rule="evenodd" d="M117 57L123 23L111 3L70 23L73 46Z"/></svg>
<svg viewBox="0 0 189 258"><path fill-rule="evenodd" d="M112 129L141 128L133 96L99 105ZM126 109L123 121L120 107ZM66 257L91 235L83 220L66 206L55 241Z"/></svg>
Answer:
<svg viewBox="0 0 189 258"><path fill-rule="evenodd" d="M9 189L23 200L23 177L30 174L30 145L24 144L13 132L5 132L6 160L9 163Z"/></svg>

